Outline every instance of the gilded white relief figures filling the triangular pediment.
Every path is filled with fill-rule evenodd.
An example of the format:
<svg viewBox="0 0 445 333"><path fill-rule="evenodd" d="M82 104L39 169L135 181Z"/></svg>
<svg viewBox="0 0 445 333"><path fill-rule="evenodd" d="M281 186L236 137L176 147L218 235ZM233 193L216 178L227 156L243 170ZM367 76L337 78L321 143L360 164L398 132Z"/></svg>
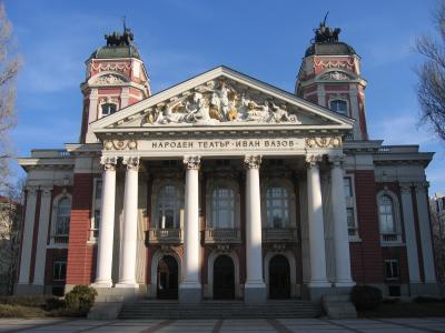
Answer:
<svg viewBox="0 0 445 333"><path fill-rule="evenodd" d="M142 125L221 122L300 123L285 103L278 105L267 97L253 99L247 90L215 80L148 109Z"/></svg>

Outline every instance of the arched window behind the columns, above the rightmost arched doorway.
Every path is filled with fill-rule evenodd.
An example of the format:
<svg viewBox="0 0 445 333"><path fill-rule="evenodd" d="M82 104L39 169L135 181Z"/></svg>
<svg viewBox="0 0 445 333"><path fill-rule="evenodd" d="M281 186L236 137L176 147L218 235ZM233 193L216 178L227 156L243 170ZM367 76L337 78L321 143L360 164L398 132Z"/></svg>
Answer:
<svg viewBox="0 0 445 333"><path fill-rule="evenodd" d="M286 188L270 186L266 191L268 228L289 228L289 193Z"/></svg>

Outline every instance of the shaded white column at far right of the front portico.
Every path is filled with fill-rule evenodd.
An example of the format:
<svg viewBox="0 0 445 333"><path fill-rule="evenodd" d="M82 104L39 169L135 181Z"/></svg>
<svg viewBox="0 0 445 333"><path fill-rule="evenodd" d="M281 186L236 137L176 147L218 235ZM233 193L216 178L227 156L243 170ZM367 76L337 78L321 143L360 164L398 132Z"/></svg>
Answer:
<svg viewBox="0 0 445 333"><path fill-rule="evenodd" d="M330 201L334 222L334 250L336 286L352 286L350 276L349 236L347 228L346 200L344 191L343 157L329 157L333 162L330 169Z"/></svg>

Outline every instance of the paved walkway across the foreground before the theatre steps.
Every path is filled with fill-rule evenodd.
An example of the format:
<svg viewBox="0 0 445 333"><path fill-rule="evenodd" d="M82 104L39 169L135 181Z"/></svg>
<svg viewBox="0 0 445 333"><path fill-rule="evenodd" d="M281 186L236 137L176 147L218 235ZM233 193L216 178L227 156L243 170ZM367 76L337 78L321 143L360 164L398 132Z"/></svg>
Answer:
<svg viewBox="0 0 445 333"><path fill-rule="evenodd" d="M445 317L376 319L376 320L59 320L59 319L3 319L0 332L445 332Z"/></svg>

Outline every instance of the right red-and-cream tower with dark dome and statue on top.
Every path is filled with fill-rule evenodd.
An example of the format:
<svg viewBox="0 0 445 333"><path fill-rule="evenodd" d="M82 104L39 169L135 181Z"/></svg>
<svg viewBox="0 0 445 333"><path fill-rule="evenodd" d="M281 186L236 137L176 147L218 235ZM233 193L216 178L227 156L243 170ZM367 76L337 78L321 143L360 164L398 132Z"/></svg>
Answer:
<svg viewBox="0 0 445 333"><path fill-rule="evenodd" d="M326 14L327 17L327 14ZM360 74L360 57L338 40L340 29L325 20L315 29L295 84L295 93L310 102L355 119L348 140L368 140L365 115L366 80Z"/></svg>

